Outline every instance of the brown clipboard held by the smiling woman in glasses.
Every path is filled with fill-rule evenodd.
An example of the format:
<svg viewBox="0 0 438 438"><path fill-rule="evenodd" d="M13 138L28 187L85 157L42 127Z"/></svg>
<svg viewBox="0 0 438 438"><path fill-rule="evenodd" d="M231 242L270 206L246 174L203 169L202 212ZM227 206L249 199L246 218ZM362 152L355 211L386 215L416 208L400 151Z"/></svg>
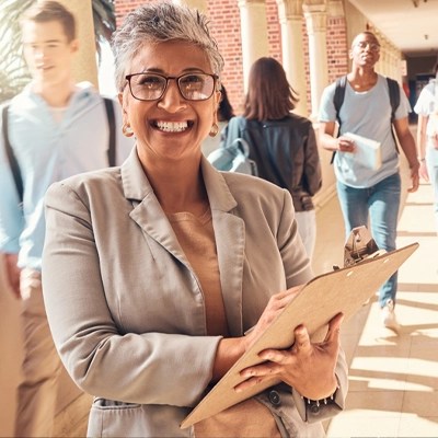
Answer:
<svg viewBox="0 0 438 438"><path fill-rule="evenodd" d="M279 383L278 379L272 379L243 393L233 389L243 380L240 377L241 370L262 362L257 356L260 351L265 348L289 348L293 344L292 328L299 324L306 325L312 342L322 342L327 332L327 323L333 316L343 312L346 321L355 314L417 247L418 243L413 243L370 256L353 266L316 276L306 284L301 293L183 420L181 428L189 427Z"/></svg>

